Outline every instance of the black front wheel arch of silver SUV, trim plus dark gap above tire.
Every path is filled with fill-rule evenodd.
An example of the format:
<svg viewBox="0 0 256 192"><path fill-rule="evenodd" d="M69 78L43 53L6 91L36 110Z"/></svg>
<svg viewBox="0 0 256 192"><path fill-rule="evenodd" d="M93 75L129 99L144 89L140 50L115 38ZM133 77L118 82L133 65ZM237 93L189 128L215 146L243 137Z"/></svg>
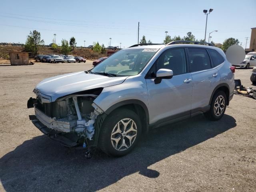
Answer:
<svg viewBox="0 0 256 192"><path fill-rule="evenodd" d="M110 108L108 108L105 111L105 113L109 115L111 112L119 108L127 108L136 112L136 114L138 114L142 122L142 131L148 132L149 114L148 114L148 108L144 102L137 99L124 100L112 105Z"/></svg>

